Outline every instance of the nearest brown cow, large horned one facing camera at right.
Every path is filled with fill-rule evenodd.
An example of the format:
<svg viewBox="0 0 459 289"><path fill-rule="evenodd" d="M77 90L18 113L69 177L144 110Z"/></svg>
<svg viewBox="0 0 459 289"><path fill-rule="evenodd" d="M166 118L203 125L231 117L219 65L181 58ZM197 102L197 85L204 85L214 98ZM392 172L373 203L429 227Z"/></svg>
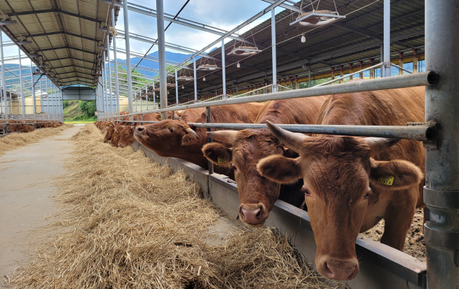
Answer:
<svg viewBox="0 0 459 289"><path fill-rule="evenodd" d="M317 123L404 126L424 121L423 112L423 87L369 91L330 96ZM416 207L423 207L425 153L421 142L308 137L268 125L300 156L269 156L259 161L257 169L264 177L284 184L303 178L320 274L330 279L353 279L359 272L356 237L382 218L381 242L403 250Z"/></svg>

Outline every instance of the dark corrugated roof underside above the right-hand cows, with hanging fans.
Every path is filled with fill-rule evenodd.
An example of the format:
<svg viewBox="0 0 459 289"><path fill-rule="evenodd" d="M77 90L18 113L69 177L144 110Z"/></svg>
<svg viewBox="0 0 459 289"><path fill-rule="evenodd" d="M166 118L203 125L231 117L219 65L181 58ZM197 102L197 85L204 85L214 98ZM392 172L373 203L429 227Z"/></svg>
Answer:
<svg viewBox="0 0 459 289"><path fill-rule="evenodd" d="M305 4L309 1L305 1ZM299 3L296 6L299 7ZM333 1L322 0L319 10L335 10ZM364 65L370 63L372 57L375 63L379 62L380 45L383 39L383 1L375 0L336 0L340 15L346 15L343 20L321 28L308 29L296 25L290 26L298 13L284 10L276 15L276 43L277 43L277 68L278 80L288 80L304 77L308 73L308 65L314 75L330 73L331 66L337 71L343 65L345 73L349 70L349 62L354 66L354 71L359 68L359 60ZM306 8L306 10L311 9ZM301 34L306 36L306 43L301 43ZM248 40L255 40L257 47L262 52L252 57L235 57L227 55L225 58L227 89L245 89L248 85L262 84L265 73L269 81L272 80L271 62L271 19L262 22L245 34ZM239 41L236 43L239 45ZM424 1L422 0L391 0L391 52L398 50L411 50L412 47L424 45ZM225 54L234 47L234 40L225 45ZM420 49L422 52L422 48ZM211 52L216 59L221 59L221 48ZM412 52L405 52L409 57ZM393 54L392 58L398 55ZM241 68L236 68L240 61ZM199 65L200 61L197 61ZM211 60L213 63L213 61ZM216 61L220 67L221 61ZM228 66L228 64L233 64ZM190 67L193 67L191 64ZM304 68L303 68L304 67ZM339 74L339 72L338 72ZM206 81L202 77L206 75ZM207 75L199 71L198 91L201 95L222 92L222 72L216 71ZM181 86L181 83L179 82ZM184 84L185 89L179 89L181 98L193 98L193 82ZM170 102L174 102L174 94L169 95Z"/></svg>

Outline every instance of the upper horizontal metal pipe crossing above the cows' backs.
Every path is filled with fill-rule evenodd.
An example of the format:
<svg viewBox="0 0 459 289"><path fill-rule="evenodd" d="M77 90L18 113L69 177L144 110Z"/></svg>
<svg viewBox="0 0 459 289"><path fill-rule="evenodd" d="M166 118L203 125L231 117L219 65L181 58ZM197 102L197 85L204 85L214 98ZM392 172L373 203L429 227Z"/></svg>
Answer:
<svg viewBox="0 0 459 289"><path fill-rule="evenodd" d="M289 98L303 98L312 96L326 96L333 94L351 94L363 91L375 91L384 89L399 89L406 87L425 87L435 84L438 81L437 73L426 71L423 73L412 73L392 77L377 78L373 80L363 80L359 82L347 82L343 84L327 85L324 87L311 87L307 89L294 89L289 91L279 91L271 94L260 94L257 96L233 97L225 101L209 101L193 103L189 105L174 106L174 108L164 108L158 110L149 110L142 113L167 112L171 110L186 110L188 108L205 108L207 106L230 105L239 103L251 103L262 101L276 101ZM130 116L140 114L140 112L123 114Z"/></svg>

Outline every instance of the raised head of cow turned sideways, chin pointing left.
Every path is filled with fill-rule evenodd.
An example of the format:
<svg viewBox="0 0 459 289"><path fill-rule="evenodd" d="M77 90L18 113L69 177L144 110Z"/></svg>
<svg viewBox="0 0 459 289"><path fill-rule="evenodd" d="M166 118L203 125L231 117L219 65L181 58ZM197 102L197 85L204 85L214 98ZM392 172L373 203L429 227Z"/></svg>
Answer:
<svg viewBox="0 0 459 289"><path fill-rule="evenodd" d="M196 144L199 136L184 121L163 120L135 128L135 139L163 156L174 155L177 147Z"/></svg>

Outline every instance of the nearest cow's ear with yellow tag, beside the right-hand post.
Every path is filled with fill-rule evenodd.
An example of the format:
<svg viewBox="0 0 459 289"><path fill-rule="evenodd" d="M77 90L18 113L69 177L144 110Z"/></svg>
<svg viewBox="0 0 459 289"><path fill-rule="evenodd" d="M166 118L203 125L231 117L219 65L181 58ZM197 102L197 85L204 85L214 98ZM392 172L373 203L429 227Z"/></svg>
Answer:
<svg viewBox="0 0 459 289"><path fill-rule="evenodd" d="M375 161L370 158L370 183L379 188L400 190L418 185L423 172L409 161Z"/></svg>

